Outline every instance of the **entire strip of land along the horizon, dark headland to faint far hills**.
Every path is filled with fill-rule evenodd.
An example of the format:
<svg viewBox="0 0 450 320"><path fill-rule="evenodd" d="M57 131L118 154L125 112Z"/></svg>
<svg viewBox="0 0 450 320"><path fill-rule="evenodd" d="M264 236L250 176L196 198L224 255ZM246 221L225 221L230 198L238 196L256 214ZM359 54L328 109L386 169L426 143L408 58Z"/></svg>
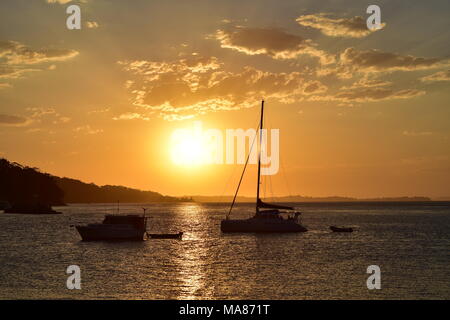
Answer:
<svg viewBox="0 0 450 320"><path fill-rule="evenodd" d="M429 197L308 197L284 196L266 198L272 202L426 202ZM448 199L435 199L448 200ZM38 168L23 166L0 158L0 210L7 207L50 208L67 203L149 203L149 202L231 202L232 196L183 196L173 197L155 191L142 191L124 186L85 183L80 180L57 177L41 172ZM251 197L238 197L237 202L254 202Z"/></svg>

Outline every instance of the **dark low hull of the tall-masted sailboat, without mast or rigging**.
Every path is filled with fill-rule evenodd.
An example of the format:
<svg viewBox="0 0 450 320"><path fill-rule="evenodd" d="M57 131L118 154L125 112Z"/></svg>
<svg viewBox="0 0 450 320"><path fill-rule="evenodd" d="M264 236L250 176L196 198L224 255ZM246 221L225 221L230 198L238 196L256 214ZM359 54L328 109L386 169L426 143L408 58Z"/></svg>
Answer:
<svg viewBox="0 0 450 320"><path fill-rule="evenodd" d="M224 233L291 233L308 231L304 226L294 221L263 218L222 220L220 230Z"/></svg>

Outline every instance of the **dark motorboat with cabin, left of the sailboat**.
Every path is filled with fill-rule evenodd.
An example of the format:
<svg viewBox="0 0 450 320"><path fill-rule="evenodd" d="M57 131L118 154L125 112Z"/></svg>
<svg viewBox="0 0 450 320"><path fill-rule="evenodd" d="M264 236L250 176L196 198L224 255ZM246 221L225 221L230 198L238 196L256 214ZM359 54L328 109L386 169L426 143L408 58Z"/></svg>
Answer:
<svg viewBox="0 0 450 320"><path fill-rule="evenodd" d="M105 216L102 223L76 226L83 241L143 241L147 218L141 215Z"/></svg>

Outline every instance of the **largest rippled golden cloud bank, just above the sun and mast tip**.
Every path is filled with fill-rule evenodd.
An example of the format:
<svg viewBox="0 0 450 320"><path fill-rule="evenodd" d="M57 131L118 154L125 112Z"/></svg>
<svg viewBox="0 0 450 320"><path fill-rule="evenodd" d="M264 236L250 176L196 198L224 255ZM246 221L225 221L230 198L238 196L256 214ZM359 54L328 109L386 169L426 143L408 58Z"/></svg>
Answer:
<svg viewBox="0 0 450 320"><path fill-rule="evenodd" d="M305 80L299 72L272 73L252 67L229 72L215 57L119 64L132 76L127 87L133 104L142 112L123 114L116 120L149 119L152 112L167 120L185 119L207 112L250 108L262 97L292 103L302 95L327 89L319 81Z"/></svg>

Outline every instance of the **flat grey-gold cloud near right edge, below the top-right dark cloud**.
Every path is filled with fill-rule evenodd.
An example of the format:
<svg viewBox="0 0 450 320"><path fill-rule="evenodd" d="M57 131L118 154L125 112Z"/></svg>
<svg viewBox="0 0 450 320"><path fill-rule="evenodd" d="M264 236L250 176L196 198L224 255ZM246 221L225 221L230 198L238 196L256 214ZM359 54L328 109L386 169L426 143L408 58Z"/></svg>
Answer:
<svg viewBox="0 0 450 320"><path fill-rule="evenodd" d="M421 58L382 52L376 49L359 51L347 48L340 55L340 63L351 66L359 72L383 72L426 70L439 67L445 61L438 58Z"/></svg>

